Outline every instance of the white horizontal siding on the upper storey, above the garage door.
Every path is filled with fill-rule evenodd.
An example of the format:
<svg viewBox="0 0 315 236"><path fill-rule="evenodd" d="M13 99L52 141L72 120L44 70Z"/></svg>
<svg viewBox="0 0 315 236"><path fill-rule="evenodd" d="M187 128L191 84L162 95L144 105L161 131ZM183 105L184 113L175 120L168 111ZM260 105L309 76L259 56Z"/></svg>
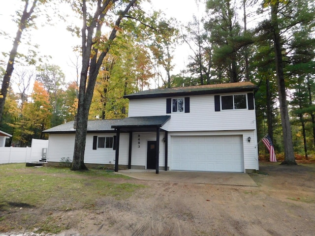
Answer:
<svg viewBox="0 0 315 236"><path fill-rule="evenodd" d="M255 130L254 110L215 112L214 95L190 96L189 113L166 114L166 98L132 99L129 117L171 115L168 131Z"/></svg>

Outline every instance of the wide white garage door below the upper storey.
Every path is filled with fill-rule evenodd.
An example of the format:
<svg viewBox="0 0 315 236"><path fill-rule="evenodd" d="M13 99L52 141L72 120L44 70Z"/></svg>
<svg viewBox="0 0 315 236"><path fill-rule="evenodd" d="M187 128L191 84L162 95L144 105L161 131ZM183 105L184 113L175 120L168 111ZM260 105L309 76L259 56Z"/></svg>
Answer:
<svg viewBox="0 0 315 236"><path fill-rule="evenodd" d="M172 136L172 170L244 172L242 136Z"/></svg>

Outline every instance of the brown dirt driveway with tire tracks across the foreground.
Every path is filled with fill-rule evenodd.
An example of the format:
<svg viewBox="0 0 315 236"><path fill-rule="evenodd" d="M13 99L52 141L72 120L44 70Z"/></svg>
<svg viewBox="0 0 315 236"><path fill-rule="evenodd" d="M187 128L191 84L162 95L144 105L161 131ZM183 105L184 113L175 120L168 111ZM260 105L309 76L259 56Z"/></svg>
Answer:
<svg viewBox="0 0 315 236"><path fill-rule="evenodd" d="M60 236L314 236L315 165L260 163L260 172L258 187L117 179L148 187L52 214L70 226Z"/></svg>

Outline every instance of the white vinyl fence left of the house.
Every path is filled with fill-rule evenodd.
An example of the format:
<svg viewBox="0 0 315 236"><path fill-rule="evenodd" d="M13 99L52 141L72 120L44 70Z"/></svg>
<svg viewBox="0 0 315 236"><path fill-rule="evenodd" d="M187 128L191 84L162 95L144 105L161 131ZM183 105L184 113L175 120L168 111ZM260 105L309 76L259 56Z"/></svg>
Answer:
<svg viewBox="0 0 315 236"><path fill-rule="evenodd" d="M31 148L0 147L0 164L39 161L42 159L43 151L46 153L47 148L48 140L42 139L32 139Z"/></svg>

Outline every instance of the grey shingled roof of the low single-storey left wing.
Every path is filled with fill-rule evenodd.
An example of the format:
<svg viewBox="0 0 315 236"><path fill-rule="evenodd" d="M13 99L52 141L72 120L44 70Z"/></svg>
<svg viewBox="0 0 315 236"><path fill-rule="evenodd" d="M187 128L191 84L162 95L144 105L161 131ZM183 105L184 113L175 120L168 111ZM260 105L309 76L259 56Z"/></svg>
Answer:
<svg viewBox="0 0 315 236"><path fill-rule="evenodd" d="M114 125L119 119L98 119L98 120L88 120L88 127L87 132L88 133L104 133L104 131L110 133L115 132L115 130L112 128L112 125ZM49 134L56 134L56 133L75 133L75 129L73 128L74 121L69 121L64 124L55 126L50 129L46 129L43 132L49 133Z"/></svg>

